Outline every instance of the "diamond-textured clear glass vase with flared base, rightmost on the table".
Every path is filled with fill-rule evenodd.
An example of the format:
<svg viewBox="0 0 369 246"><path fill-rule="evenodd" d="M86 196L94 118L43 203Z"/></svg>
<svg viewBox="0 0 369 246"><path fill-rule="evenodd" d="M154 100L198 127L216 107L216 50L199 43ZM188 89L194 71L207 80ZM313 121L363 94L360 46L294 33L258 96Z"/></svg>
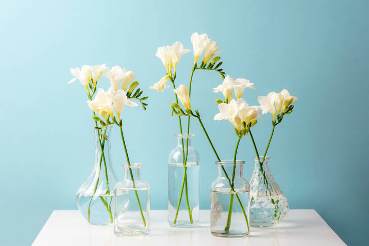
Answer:
<svg viewBox="0 0 369 246"><path fill-rule="evenodd" d="M287 198L270 172L269 157L260 156L254 160L250 178L250 223L252 226L271 226L287 216Z"/></svg>

